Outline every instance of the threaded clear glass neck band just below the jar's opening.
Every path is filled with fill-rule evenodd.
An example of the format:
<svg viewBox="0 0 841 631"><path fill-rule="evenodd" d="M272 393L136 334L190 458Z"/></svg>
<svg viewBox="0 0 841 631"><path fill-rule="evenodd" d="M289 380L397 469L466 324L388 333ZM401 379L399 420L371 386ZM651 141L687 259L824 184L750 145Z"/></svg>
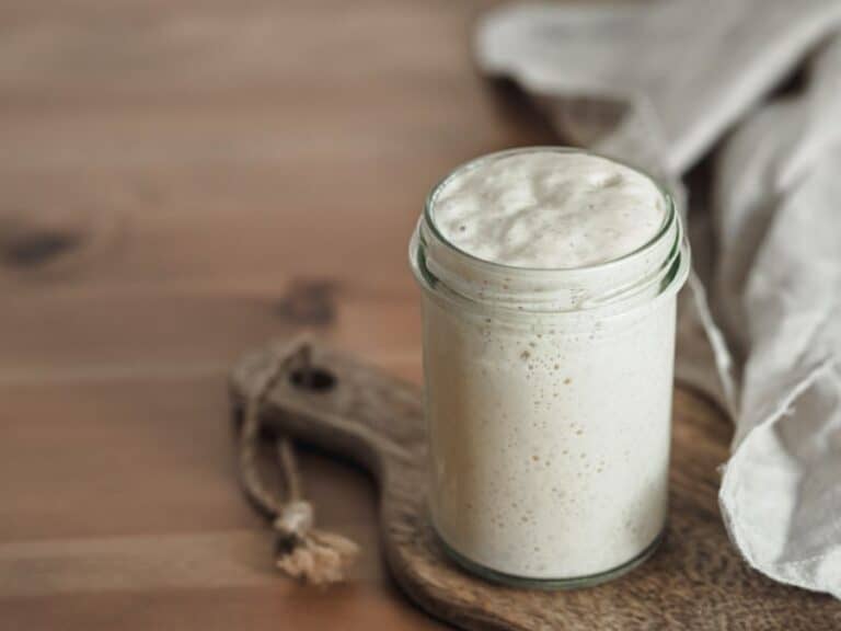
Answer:
<svg viewBox="0 0 841 631"><path fill-rule="evenodd" d="M640 250L597 265L532 269L500 265L458 250L425 213L410 259L418 282L483 308L529 312L624 310L676 292L689 272L689 244L671 198L660 231ZM431 197L430 197L431 198Z"/></svg>

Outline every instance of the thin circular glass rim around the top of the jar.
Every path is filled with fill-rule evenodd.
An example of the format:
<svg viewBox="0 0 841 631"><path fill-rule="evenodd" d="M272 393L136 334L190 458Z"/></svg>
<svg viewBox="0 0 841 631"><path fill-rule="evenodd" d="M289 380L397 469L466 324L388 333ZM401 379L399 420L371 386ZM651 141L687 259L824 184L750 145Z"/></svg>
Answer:
<svg viewBox="0 0 841 631"><path fill-rule="evenodd" d="M519 156L525 153L539 153L539 152L573 153L573 154L577 153L581 156L601 158L601 159L614 162L617 164L620 164L621 167L625 167L626 169L631 169L632 171L643 175L652 184L654 184L654 186L663 196L664 202L666 203L666 215L664 217L663 223L657 229L657 232L650 239L648 239L645 243L643 243L638 248L635 248L631 252L622 254L621 256L617 256L615 259L609 259L608 261L600 261L598 263L591 263L588 265L575 265L569 267L525 267L520 265L509 265L506 263L499 263L497 261L491 261L488 259L482 259L481 256L476 256L475 254L471 254L466 250L459 248L452 241L450 241L443 236L443 233L439 230L437 223L435 222L433 208L435 207L438 195L441 193L445 186L447 186L447 184L449 184L457 176L463 175L466 171L481 167L482 164L491 160L498 160L502 158L507 158L509 156ZM586 149L580 149L577 147L566 147L563 145L531 145L527 147L516 147L514 149L504 149L502 151L485 153L477 158L473 158L471 160L462 162L461 164L456 167L456 169L450 171L445 177L442 177L435 186L433 186L433 188L429 191L429 193L426 196L426 200L424 203L424 213L423 213L423 221L426 225L425 227L431 232L431 234L438 241L447 245L452 251L457 252L459 255L466 257L471 263L479 264L479 265L486 265L491 269L509 272L511 274L517 274L517 275L532 275L532 274L541 275L541 274L564 273L564 272L575 273L575 272L587 272L587 271L597 271L597 269L601 271L601 269L608 269L611 266L622 265L629 259L633 259L636 255L643 254L648 249L654 246L664 237L664 234L666 234L669 231L669 229L671 228L672 223L676 220L676 217L677 217L677 208L675 205L675 199L672 198L671 194L669 194L669 192L659 183L659 181L647 171L640 169L638 167L629 164L627 162L624 162L622 160L617 160L615 158L604 156L602 153L589 151Z"/></svg>

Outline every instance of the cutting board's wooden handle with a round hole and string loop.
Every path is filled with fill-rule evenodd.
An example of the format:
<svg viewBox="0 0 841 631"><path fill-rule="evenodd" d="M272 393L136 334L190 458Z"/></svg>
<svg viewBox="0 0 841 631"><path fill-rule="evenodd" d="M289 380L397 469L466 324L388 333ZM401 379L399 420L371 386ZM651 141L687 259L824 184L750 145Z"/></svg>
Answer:
<svg viewBox="0 0 841 631"><path fill-rule="evenodd" d="M350 457L378 478L392 464L417 464L423 457L418 389L309 337L273 344L237 364L230 380L234 418L278 367L261 411L265 426Z"/></svg>

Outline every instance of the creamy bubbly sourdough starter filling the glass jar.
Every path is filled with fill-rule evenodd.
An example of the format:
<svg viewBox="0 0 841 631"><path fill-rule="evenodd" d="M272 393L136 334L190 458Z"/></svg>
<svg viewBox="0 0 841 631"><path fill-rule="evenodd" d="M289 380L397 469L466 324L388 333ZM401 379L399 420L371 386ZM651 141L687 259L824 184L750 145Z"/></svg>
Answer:
<svg viewBox="0 0 841 631"><path fill-rule="evenodd" d="M413 248L429 505L457 557L563 581L657 540L680 242L649 177L583 152L486 157L434 191Z"/></svg>

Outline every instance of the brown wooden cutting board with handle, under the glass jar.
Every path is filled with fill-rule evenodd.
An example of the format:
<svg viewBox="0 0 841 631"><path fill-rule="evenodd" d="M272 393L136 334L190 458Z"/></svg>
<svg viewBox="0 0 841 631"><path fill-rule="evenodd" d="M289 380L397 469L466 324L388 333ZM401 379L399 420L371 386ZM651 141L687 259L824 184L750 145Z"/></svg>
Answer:
<svg viewBox="0 0 841 631"><path fill-rule="evenodd" d="M264 421L372 473L391 572L405 594L437 618L476 630L841 629L838 601L753 572L728 541L716 501L716 467L726 458L730 429L695 394L681 389L675 394L669 526L655 555L598 587L525 590L464 573L436 542L425 508L426 447L416 387L318 344L292 342L280 351L255 352L237 366L235 418L270 353L292 360L268 398Z"/></svg>

